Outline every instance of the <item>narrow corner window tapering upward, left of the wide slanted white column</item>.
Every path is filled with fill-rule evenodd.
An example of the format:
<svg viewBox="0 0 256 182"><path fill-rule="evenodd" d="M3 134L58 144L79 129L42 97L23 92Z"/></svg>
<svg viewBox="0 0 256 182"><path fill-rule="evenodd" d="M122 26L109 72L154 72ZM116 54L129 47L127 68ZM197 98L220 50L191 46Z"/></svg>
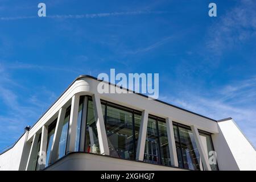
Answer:
<svg viewBox="0 0 256 182"><path fill-rule="evenodd" d="M96 121L94 118L93 103L91 100L88 100L88 106L87 106L85 152L100 154L100 146L98 143L98 132L96 127Z"/></svg>

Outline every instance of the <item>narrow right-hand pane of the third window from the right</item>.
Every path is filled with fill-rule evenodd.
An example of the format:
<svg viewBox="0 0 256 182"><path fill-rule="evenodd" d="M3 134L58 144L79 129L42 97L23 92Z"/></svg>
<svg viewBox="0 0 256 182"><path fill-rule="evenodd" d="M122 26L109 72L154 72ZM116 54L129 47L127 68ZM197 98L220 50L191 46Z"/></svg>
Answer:
<svg viewBox="0 0 256 182"><path fill-rule="evenodd" d="M158 131L162 164L165 166L171 166L166 122L158 121Z"/></svg>

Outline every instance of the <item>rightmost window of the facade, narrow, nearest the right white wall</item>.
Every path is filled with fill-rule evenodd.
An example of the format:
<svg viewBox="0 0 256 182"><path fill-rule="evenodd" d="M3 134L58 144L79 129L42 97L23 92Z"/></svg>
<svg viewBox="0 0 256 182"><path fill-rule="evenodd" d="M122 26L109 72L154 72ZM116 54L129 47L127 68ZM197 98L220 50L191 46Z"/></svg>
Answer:
<svg viewBox="0 0 256 182"><path fill-rule="evenodd" d="M205 152L208 155L210 168L212 169L212 171L218 171L217 159L216 159L216 155L214 154L212 138L210 137L210 134L203 133L203 132L199 132L199 134L200 134L200 138L203 143Z"/></svg>

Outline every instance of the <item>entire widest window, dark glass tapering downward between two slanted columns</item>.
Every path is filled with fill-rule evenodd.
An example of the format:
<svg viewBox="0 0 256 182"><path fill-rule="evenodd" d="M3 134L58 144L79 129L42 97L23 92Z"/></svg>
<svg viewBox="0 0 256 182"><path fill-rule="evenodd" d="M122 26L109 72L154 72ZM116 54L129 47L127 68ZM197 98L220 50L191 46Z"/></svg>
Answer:
<svg viewBox="0 0 256 182"><path fill-rule="evenodd" d="M141 113L106 101L101 106L110 156L135 160Z"/></svg>

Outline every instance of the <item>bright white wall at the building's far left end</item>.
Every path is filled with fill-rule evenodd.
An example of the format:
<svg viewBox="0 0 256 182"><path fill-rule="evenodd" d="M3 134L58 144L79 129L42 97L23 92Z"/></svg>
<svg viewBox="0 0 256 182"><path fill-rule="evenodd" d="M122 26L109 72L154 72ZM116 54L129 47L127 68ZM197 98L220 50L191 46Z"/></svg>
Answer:
<svg viewBox="0 0 256 182"><path fill-rule="evenodd" d="M22 157L22 151L26 140L26 134L24 134L18 142L2 155L0 155L0 171L18 171L20 159Z"/></svg>

